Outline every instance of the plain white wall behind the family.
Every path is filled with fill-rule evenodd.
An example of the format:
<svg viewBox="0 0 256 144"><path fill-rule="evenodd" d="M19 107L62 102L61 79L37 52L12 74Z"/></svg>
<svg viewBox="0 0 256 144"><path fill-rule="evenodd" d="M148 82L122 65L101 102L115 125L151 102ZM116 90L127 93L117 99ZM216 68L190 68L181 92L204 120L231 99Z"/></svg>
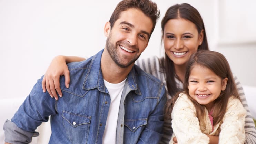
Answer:
<svg viewBox="0 0 256 144"><path fill-rule="evenodd" d="M232 28L237 34L234 35L233 32L232 38L233 36L236 40L248 38L246 31L243 31L248 24L244 25L243 22L248 23L249 20L249 23L254 23L255 21L251 20L252 17L243 17L243 21L239 21L241 19L239 17L236 19L234 16L233 19L225 21L225 18L232 13L230 10L234 10L228 7L229 13L225 12L226 4L232 4L229 0L225 0L226 3L220 0L154 1L161 10L161 18L152 34L148 48L141 55L142 58L163 55L160 51L160 21L169 6L188 2L197 8L203 17L210 49L226 56L233 72L243 85L256 86L256 34L253 33L250 36L250 41L242 40L235 44L232 43L233 41L228 43L221 41L223 38L228 39ZM243 2L246 1L249 0ZM106 41L103 34L104 24L109 20L118 2L119 0L90 2L84 0L0 0L0 97L27 96L56 55L85 57L104 48ZM251 6L256 4L255 1L249 3ZM236 4L238 5L239 3ZM243 11L254 13L250 16L256 14L254 9L240 7L239 12ZM234 25L234 23L240 25ZM221 33L220 30L227 28L227 25L231 28L224 31L224 34ZM239 31L243 33L240 35Z"/></svg>

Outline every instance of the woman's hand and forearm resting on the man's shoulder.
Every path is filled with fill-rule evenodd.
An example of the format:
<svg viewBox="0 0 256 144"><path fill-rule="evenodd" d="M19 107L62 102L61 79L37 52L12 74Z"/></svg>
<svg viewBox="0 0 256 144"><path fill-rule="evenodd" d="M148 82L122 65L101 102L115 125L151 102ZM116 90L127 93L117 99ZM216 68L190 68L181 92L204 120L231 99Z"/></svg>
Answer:
<svg viewBox="0 0 256 144"><path fill-rule="evenodd" d="M68 88L70 77L67 63L75 62L75 61L83 61L85 58L76 57L76 56L56 56L50 66L48 67L45 75L43 76L42 88L43 92L48 91L50 96L58 100L58 95L62 97L62 93L60 90L60 76L65 76L65 85ZM57 93L56 93L57 91Z"/></svg>

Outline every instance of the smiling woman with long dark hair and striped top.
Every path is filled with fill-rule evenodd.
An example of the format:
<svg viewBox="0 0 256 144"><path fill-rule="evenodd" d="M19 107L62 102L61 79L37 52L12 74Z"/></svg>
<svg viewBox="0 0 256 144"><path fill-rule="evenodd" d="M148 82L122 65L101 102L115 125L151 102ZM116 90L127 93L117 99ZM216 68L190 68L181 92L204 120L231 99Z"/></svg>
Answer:
<svg viewBox="0 0 256 144"><path fill-rule="evenodd" d="M176 4L167 11L161 23L162 41L165 48L165 58L151 57L137 60L136 64L144 71L156 76L166 86L168 99L183 88L186 63L189 57L200 50L209 50L203 19L199 12L189 4ZM68 87L69 71L66 63L81 61L84 58L57 56L53 59L42 82L43 91L46 89L57 99L57 93L62 96L59 88L59 76L65 76ZM239 96L247 110L245 119L245 143L256 142L256 128L249 112L242 85L234 77ZM169 143L172 130L170 120L165 120L164 136L161 143ZM210 143L218 143L218 137L210 136Z"/></svg>

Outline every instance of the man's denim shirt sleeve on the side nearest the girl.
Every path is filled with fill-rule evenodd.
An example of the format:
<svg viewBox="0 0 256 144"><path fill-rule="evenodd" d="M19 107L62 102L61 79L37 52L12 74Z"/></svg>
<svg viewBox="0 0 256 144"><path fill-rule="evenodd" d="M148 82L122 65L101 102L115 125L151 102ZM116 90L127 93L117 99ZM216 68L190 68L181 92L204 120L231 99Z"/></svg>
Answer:
<svg viewBox="0 0 256 144"><path fill-rule="evenodd" d="M158 144L163 136L164 106L166 104L165 87L159 93L159 102L148 117L148 124L140 134L137 144Z"/></svg>

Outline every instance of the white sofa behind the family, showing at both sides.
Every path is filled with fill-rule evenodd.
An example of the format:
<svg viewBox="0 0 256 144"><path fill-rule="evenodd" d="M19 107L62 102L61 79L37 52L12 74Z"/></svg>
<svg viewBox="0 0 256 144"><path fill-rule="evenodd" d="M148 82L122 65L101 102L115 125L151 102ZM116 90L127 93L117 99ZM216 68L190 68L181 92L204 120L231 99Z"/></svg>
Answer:
<svg viewBox="0 0 256 144"><path fill-rule="evenodd" d="M250 107L250 112L252 113L253 117L256 118L256 87L243 86L243 88L248 102L248 106ZM14 115L14 113L18 110L19 106L24 101L24 99L25 97L0 100L1 127L3 126L3 123L6 119L11 119L11 117ZM36 131L39 132L40 135L38 137L34 137L31 144L47 144L49 142L51 134L50 121L43 123L37 128ZM2 128L0 129L0 143L4 143L4 131Z"/></svg>

